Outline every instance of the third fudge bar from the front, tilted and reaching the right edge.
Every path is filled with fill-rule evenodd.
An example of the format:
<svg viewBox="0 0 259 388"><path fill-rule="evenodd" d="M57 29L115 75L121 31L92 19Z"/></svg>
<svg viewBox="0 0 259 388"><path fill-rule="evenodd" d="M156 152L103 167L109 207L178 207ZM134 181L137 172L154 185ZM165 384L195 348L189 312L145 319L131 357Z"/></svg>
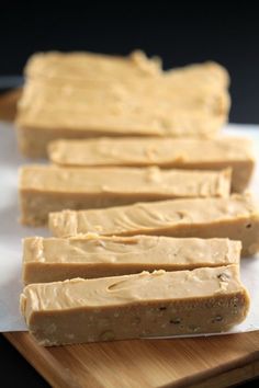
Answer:
<svg viewBox="0 0 259 388"><path fill-rule="evenodd" d="M243 242L243 255L259 250L259 208L249 195L229 198L173 199L95 210L49 214L57 237L159 235L229 238Z"/></svg>

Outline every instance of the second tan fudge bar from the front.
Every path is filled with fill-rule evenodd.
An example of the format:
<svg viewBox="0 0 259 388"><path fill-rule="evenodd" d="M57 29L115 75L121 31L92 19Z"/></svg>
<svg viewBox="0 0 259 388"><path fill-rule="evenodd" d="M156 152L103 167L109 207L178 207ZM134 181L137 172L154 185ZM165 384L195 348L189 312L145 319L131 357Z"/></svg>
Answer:
<svg viewBox="0 0 259 388"><path fill-rule="evenodd" d="M157 236L77 236L23 240L23 282L105 277L154 270L181 271L238 264L240 241Z"/></svg>

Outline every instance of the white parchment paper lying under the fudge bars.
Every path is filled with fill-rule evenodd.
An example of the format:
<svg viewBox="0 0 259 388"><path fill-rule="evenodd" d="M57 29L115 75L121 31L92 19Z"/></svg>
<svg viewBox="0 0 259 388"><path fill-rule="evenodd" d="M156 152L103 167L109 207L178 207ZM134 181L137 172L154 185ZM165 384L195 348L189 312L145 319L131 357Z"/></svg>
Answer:
<svg viewBox="0 0 259 388"><path fill-rule="evenodd" d="M224 134L254 140L258 167L250 190L259 201L259 126L232 124L224 129ZM29 162L19 155L13 126L0 122L0 332L26 330L19 311L21 239L48 236L45 228L29 228L19 224L18 169ZM250 312L246 321L232 332L259 330L259 256L241 260L241 279L250 293Z"/></svg>

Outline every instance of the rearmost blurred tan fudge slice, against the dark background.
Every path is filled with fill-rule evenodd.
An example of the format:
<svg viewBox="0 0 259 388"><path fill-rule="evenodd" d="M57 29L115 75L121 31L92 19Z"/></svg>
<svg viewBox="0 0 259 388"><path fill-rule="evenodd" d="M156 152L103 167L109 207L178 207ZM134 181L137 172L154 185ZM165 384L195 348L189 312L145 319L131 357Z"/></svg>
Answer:
<svg viewBox="0 0 259 388"><path fill-rule="evenodd" d="M147 58L142 50L134 50L126 57L88 52L36 53L27 61L27 78L48 79L52 82L121 82L145 78L165 77L167 82L207 83L227 88L229 76L221 65L207 61L188 65L167 71L161 69L159 57Z"/></svg>

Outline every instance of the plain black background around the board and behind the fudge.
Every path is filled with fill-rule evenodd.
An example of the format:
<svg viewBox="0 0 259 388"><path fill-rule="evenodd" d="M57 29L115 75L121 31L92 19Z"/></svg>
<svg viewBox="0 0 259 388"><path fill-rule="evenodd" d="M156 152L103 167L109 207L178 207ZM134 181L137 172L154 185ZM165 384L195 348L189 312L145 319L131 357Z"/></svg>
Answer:
<svg viewBox="0 0 259 388"><path fill-rule="evenodd" d="M159 55L165 68L212 59L232 77L230 121L259 123L259 22L249 2L228 8L103 1L79 8L71 0L69 8L63 3L56 10L21 3L0 3L0 76L21 75L31 54L49 49L126 55L142 48ZM1 379L8 378L4 387L47 386L2 336L0 370Z"/></svg>

